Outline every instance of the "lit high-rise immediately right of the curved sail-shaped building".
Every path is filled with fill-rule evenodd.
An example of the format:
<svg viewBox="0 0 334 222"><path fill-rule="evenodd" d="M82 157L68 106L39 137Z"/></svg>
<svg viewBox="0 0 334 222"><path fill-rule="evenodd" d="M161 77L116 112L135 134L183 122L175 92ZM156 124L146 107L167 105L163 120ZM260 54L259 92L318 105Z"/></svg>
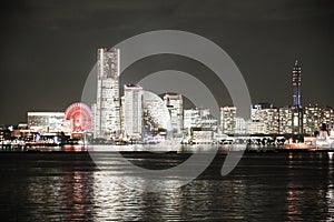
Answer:
<svg viewBox="0 0 334 222"><path fill-rule="evenodd" d="M170 115L171 130L175 133L180 133L184 128L184 105L181 94L164 95L165 105L167 107Z"/></svg>

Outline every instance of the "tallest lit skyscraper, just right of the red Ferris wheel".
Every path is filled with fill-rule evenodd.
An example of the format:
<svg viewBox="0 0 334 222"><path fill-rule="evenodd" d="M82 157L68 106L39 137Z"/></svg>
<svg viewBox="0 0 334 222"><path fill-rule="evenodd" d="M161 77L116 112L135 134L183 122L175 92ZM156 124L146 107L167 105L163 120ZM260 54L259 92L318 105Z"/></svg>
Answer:
<svg viewBox="0 0 334 222"><path fill-rule="evenodd" d="M95 138L120 133L119 49L98 49Z"/></svg>

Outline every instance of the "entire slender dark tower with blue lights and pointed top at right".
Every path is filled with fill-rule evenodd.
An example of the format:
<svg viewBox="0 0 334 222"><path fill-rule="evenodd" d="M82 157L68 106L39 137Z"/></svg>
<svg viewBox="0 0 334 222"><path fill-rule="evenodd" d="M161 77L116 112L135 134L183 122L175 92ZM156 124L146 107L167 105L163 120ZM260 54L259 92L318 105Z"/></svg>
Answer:
<svg viewBox="0 0 334 222"><path fill-rule="evenodd" d="M293 121L292 121L292 132L294 134L303 133L303 108L301 103L301 88L302 88L302 68L298 60L295 61L295 65L292 71L293 81Z"/></svg>

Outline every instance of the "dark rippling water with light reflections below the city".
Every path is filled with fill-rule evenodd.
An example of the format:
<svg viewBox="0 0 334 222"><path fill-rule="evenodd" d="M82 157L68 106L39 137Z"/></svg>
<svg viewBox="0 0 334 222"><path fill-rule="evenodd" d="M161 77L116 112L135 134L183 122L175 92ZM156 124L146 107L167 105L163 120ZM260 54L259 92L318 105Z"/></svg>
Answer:
<svg viewBox="0 0 334 222"><path fill-rule="evenodd" d="M332 221L332 154L246 153L227 176L220 154L191 183L151 193L125 186L139 181L117 161L99 171L87 153L0 153L1 221ZM186 158L136 161L165 168Z"/></svg>

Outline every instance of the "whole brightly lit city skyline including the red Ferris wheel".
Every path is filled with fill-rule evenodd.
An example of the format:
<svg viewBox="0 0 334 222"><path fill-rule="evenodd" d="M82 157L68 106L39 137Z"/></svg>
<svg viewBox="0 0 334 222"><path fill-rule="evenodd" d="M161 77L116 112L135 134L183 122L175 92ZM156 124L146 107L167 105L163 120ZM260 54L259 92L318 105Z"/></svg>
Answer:
<svg viewBox="0 0 334 222"><path fill-rule="evenodd" d="M312 135L320 129L333 131L332 108L302 105L302 67L297 60L292 69L292 105L252 104L250 118L244 119L237 114L237 107L220 107L219 117L214 117L209 108L185 108L181 93L165 92L159 97L139 84L124 84L120 94L120 53L119 48L97 49L96 97L91 110L85 103L73 103L66 114L28 112L27 129L21 124L23 131L66 132L75 137L88 133L95 139L112 141L185 134L191 134L195 141L204 138L209 141L213 132Z"/></svg>

